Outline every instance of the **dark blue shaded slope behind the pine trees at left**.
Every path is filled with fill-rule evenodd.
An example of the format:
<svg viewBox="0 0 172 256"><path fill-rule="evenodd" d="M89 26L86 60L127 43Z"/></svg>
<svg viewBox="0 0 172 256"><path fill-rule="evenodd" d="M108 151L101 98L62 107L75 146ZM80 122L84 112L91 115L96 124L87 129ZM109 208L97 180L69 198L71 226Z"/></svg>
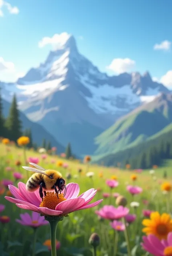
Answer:
<svg viewBox="0 0 172 256"><path fill-rule="evenodd" d="M3 104L3 114L5 117L7 117L10 103L2 100ZM25 130L26 128L30 128L32 130L32 138L33 142L37 143L38 146L41 146L42 144L42 138L46 138L46 141L50 141L52 147L57 147L57 153L63 153L65 152L65 148L56 141L56 139L40 124L34 123L30 121L24 113L20 111L20 120L22 122L22 129Z"/></svg>

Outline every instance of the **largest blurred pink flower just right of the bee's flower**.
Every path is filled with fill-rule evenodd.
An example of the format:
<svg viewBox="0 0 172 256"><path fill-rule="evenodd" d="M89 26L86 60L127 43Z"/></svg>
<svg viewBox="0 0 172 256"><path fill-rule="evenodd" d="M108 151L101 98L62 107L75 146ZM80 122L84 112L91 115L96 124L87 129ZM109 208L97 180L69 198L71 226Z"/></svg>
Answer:
<svg viewBox="0 0 172 256"><path fill-rule="evenodd" d="M95 211L97 215L108 220L118 220L126 216L128 212L129 209L126 207L118 206L118 208L115 208L112 205L105 205L100 210Z"/></svg>

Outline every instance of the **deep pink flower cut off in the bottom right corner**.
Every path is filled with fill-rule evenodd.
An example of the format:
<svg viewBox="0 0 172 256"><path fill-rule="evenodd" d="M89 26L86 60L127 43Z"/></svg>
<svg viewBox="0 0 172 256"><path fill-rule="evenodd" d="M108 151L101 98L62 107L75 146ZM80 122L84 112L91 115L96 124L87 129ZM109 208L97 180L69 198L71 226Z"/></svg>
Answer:
<svg viewBox="0 0 172 256"><path fill-rule="evenodd" d="M143 249L154 256L167 256L172 252L172 232L168 233L167 240L159 240L155 235L143 236Z"/></svg>

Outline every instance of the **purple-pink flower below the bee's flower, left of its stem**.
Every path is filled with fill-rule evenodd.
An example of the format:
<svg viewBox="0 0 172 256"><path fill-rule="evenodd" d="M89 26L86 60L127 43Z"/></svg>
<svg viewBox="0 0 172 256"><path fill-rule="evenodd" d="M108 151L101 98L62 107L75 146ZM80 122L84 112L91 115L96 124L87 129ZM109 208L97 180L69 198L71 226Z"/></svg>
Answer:
<svg viewBox="0 0 172 256"><path fill-rule="evenodd" d="M32 216L30 216L27 212L24 214L20 214L21 220L16 219L16 222L20 223L24 226L29 226L33 228L40 227L42 225L47 225L48 221L45 220L44 216L40 216L38 212L32 212Z"/></svg>

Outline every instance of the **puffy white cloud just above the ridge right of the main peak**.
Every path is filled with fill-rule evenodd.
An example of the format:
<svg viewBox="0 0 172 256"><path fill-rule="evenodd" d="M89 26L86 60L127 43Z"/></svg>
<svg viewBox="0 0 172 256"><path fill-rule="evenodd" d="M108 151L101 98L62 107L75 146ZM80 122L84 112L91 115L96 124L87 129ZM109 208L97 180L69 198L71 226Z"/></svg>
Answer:
<svg viewBox="0 0 172 256"><path fill-rule="evenodd" d="M129 72L135 67L136 62L130 58L117 58L112 60L111 64L107 66L107 69L114 71L117 74Z"/></svg>

